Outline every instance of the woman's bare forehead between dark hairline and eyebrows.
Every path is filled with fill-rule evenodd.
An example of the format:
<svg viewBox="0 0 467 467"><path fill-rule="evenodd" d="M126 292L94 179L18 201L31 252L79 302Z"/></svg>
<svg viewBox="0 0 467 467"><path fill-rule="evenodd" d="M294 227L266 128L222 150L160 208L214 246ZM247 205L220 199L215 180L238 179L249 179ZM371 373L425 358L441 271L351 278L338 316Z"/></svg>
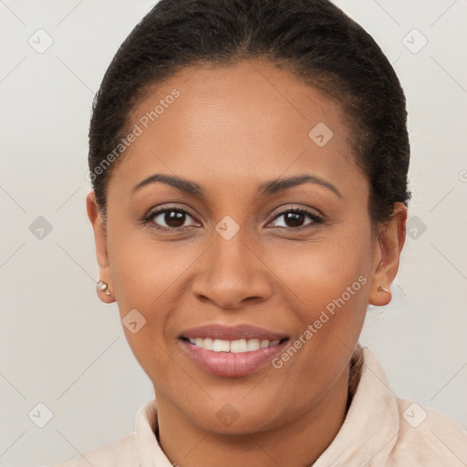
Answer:
<svg viewBox="0 0 467 467"><path fill-rule="evenodd" d="M237 183L285 172L345 178L350 190L363 179L341 106L263 61L182 69L133 109L129 128L136 127L116 171L124 172L119 186L161 171L228 183L233 192Z"/></svg>

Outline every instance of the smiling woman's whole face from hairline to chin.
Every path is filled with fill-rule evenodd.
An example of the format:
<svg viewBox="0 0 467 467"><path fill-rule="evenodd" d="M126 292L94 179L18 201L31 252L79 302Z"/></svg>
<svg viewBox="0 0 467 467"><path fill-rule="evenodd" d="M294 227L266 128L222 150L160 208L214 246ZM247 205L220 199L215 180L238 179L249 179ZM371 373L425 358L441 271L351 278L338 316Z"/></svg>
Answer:
<svg viewBox="0 0 467 467"><path fill-rule="evenodd" d="M388 303L376 289L396 261L372 233L342 109L254 61L185 68L135 124L107 228L91 195L88 212L100 277L136 322L125 334L159 406L229 433L322 410L347 387L368 303Z"/></svg>

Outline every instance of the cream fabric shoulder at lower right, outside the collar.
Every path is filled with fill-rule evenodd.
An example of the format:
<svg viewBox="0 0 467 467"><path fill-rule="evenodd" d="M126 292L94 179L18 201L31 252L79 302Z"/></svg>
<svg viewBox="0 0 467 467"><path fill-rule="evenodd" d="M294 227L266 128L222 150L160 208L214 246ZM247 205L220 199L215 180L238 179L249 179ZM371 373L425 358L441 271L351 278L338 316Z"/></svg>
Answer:
<svg viewBox="0 0 467 467"><path fill-rule="evenodd" d="M396 400L400 423L389 465L467 464L467 431L436 410L411 400Z"/></svg>

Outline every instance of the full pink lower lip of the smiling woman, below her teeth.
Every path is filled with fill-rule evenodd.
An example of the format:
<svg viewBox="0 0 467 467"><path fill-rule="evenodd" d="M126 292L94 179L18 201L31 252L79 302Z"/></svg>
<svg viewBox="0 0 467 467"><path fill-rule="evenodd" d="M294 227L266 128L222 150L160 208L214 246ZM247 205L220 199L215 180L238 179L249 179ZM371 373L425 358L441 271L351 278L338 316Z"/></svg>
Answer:
<svg viewBox="0 0 467 467"><path fill-rule="evenodd" d="M214 352L205 348L193 346L189 341L182 340L182 347L198 367L216 376L239 377L253 373L270 363L280 354L287 340L274 347L260 348L251 352Z"/></svg>

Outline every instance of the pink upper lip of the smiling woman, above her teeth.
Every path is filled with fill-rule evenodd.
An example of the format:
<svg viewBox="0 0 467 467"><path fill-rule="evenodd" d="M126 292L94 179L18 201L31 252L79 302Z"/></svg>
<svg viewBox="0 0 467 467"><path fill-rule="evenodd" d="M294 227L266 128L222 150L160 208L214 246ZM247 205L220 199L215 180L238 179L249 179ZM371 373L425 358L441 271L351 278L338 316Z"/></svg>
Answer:
<svg viewBox="0 0 467 467"><path fill-rule="evenodd" d="M186 338L208 338L223 339L223 340L239 340L239 339L260 339L260 340L282 340L288 338L284 334L279 334L274 331L262 327L254 327L249 325L238 325L228 327L223 325L205 325L201 327L192 327L182 331L180 337Z"/></svg>

